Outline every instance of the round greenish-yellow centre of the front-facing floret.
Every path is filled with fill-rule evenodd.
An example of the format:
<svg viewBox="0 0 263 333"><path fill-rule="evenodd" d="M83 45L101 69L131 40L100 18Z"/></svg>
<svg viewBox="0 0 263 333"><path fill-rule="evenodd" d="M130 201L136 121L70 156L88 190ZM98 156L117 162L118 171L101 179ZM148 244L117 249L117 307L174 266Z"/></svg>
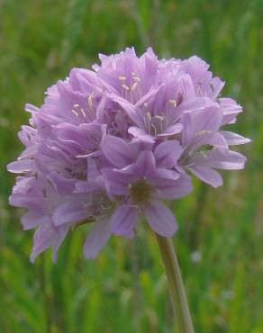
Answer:
<svg viewBox="0 0 263 333"><path fill-rule="evenodd" d="M135 204L142 204L149 201L152 187L146 179L137 180L130 184L129 188L132 201Z"/></svg>

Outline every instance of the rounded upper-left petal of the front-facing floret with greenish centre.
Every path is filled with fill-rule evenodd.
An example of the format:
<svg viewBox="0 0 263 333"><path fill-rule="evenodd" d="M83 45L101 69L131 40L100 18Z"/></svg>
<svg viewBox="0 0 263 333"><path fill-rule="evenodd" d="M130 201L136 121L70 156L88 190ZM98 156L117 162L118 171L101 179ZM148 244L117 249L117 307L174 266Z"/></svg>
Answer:
<svg viewBox="0 0 263 333"><path fill-rule="evenodd" d="M131 148L121 138L105 135L101 143L104 156L113 163L113 166L124 167L132 162Z"/></svg>

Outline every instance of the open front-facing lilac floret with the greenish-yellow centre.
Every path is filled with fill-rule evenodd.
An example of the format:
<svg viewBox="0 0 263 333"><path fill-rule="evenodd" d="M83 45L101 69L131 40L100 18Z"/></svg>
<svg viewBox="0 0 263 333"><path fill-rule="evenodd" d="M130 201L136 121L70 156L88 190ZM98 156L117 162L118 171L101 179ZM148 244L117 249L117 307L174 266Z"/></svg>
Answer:
<svg viewBox="0 0 263 333"><path fill-rule="evenodd" d="M118 203L109 221L113 233L132 234L142 213L153 230L172 236L176 220L160 200L178 199L191 191L189 177L173 169L182 150L179 142L163 141L154 151L142 150L133 163L132 148L120 138L106 136L102 149L113 163L102 170L107 193Z"/></svg>

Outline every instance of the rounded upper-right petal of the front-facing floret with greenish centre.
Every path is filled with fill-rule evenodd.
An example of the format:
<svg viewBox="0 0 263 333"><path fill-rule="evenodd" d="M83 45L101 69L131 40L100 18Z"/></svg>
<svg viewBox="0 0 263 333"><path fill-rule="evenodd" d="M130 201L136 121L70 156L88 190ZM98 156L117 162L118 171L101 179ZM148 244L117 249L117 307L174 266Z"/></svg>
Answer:
<svg viewBox="0 0 263 333"><path fill-rule="evenodd" d="M161 142L154 150L154 156L159 166L168 169L176 165L177 159L181 156L183 148L176 140L168 140Z"/></svg>

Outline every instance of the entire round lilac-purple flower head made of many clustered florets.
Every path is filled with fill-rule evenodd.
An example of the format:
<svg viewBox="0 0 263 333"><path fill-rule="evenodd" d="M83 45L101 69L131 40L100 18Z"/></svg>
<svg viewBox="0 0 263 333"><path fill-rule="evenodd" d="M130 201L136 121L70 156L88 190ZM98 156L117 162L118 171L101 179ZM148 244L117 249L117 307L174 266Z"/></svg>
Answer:
<svg viewBox="0 0 263 333"><path fill-rule="evenodd" d="M100 55L93 69L73 68L47 90L40 108L27 104L25 149L8 170L18 175L10 203L37 228L31 260L57 250L70 229L91 226L85 257L114 235L134 236L144 217L164 237L177 230L165 204L186 196L194 174L214 187L216 169L240 169L230 146L249 142L222 126L242 111L219 97L224 83L204 60L158 59L152 49Z"/></svg>

